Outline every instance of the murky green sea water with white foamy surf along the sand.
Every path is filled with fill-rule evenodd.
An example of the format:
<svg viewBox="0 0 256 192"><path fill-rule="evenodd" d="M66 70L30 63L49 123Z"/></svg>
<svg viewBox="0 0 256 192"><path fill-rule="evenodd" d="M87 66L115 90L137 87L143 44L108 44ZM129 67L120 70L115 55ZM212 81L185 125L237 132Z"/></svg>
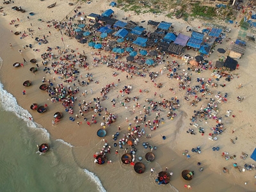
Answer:
<svg viewBox="0 0 256 192"><path fill-rule="evenodd" d="M0 191L106 191L94 173L74 162L72 145L51 140L26 116L0 84ZM40 156L38 143L49 143L49 151Z"/></svg>

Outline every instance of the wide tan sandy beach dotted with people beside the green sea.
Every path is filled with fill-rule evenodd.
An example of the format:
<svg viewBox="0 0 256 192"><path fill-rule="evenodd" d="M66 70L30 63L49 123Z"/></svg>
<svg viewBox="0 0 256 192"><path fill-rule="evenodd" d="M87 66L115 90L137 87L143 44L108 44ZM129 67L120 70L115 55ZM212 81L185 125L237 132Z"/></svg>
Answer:
<svg viewBox="0 0 256 192"><path fill-rule="evenodd" d="M1 67L1 83L4 85L4 89L12 93L18 101L18 104L24 109L28 109L31 113L31 118L33 121L42 125L51 134L52 140L61 139L72 145L72 154L74 156L77 165L81 168L86 168L91 172L95 173L101 180L104 188L107 191L120 191L123 190L147 190L147 191L185 191L185 184L191 186L193 191L254 191L255 190L255 169L252 171L246 170L245 172L239 172L237 168L234 168L233 164L237 163L238 166L244 168L244 164L255 164L255 161L250 158L254 148L256 135L253 127L256 122L253 116L255 116L255 109L253 104L253 95L255 93L253 86L253 77L255 76L255 67L253 66L253 61L255 60L255 45L248 44L246 47L246 52L244 56L238 60L239 68L233 72L230 72L232 76L230 81L226 81L225 77L221 77L220 81L217 81L212 77L213 69L202 69L202 72L198 73L195 71L189 71L191 81L190 83L185 83L186 88L179 87L180 79L170 78L171 70L163 70L164 65L167 65L167 61L176 61L179 64L177 72L182 74L182 72L188 71L188 65L186 61L181 60L170 54L163 55L163 52L159 52L163 56L162 63L159 63L156 67L145 66L145 77L136 76L135 74L131 76L131 73L127 73L126 70L116 70L115 67L108 66L104 63L108 58L115 61L126 62L125 58L129 55L122 56L122 58L117 58L116 54L113 55L111 52L106 52L104 50L92 49L88 46L88 42L93 35L88 37L88 42L86 44L79 44L76 38L70 38L65 35L64 29L54 28L52 22L68 22L69 17L76 15L74 10L81 12L81 17L86 17L90 13L101 14L101 10L107 10L109 8L113 9L115 12L115 19L122 20L123 17L128 17L128 20L138 22L140 26L143 26L147 31L154 31L156 28L148 26L147 22L141 23L141 20L156 20L157 22L166 21L172 22L174 31L179 33L181 31L184 35L190 35L190 32L186 31L187 26L193 26L193 28L200 31L204 26L200 20L189 20L185 22L184 20L168 19L164 15L154 15L152 13L145 13L141 15L135 15L132 12L124 12L116 7L109 6L110 1L92 1L89 3L78 3L75 2L74 5L70 6L68 1L57 1L56 6L53 8L47 8L50 4L54 2L50 1L20 1L17 0L14 3L4 4L3 12L7 13L6 16L1 15L1 54L0 57L3 59L3 66ZM40 6L38 6L40 4ZM12 9L13 6L22 6L25 13L17 12ZM77 8L81 6L81 8ZM29 13L35 13L34 15L29 15ZM74 17L74 21L71 20L72 24L78 23L77 20L81 18ZM18 20L19 19L19 20ZM12 23L12 20L15 22ZM90 22L88 19L84 19L84 24L88 26ZM235 28L234 24L226 24L221 20L214 21L216 24L227 26L231 28L231 33L228 33L228 37L231 38L229 42L223 40L222 44L216 44L215 49L223 48L226 49L230 42L234 42L237 38L239 30ZM18 24L17 28L15 24ZM92 24L92 23L91 23ZM200 27L200 28L199 28ZM32 31L29 32L29 29ZM74 27L75 28L75 27ZM15 33L16 31L23 35L13 35L10 31ZM3 33L2 33L3 32ZM33 35L32 35L33 33ZM93 33L93 30L92 30ZM100 36L99 32L95 32L95 36ZM35 38L45 39L49 42L47 44L38 44ZM108 43L107 37L103 42ZM112 40L112 39L111 39ZM97 40L96 42L100 42ZM12 44L12 47L10 47ZM26 47L26 45L31 44L32 48ZM125 42L117 44L125 47ZM134 46L134 45L132 45ZM51 47L52 54L57 57L55 60L58 62L55 67L51 66L54 60L48 60L47 65L42 64L41 55L44 52L49 52L47 49ZM56 49L60 47L60 49ZM24 49L25 48L25 49ZM136 47L139 50L139 47ZM22 51L19 53L19 49ZM144 48L141 48L144 49ZM150 51L149 48L146 50ZM67 51L67 52L66 52ZM153 51L153 49L151 50ZM86 56L86 63L88 67L84 68L77 64L74 66L79 71L76 74L76 80L71 77L65 78L58 73L54 73L54 70L61 65L61 59L65 58L65 55L70 54L72 60L77 60L79 56ZM76 54L76 56L74 55ZM192 49L186 50L185 54L189 54L192 57L197 55L196 51ZM227 56L228 51L223 54ZM73 57L74 56L74 57ZM167 58L168 56L168 58ZM219 59L220 54L214 51L209 58L215 65L216 61ZM23 58L27 61L24 63ZM36 67L36 63L29 62L31 59L35 58L36 63L38 63L38 71L33 74L29 71L31 67ZM145 56L145 58L152 58L150 56ZM95 62L99 60L99 62ZM69 66L72 65L72 61L62 60L67 62ZM13 63L22 63L23 67L13 67ZM104 65L106 64L106 65ZM131 63L132 65L137 65L136 63ZM49 68L49 70L45 67ZM192 68L192 67L191 67ZM49 72L50 73L49 73ZM154 82L150 80L149 74L156 74ZM88 85L82 86L79 81L87 81L88 73L92 74L93 81L90 81ZM128 77L127 77L128 76ZM74 93L74 104L72 106L73 113L68 113L63 106L63 103L52 100L48 93L40 90L39 86L43 84L42 80L45 78L45 83L52 83L53 86L72 88L74 91L76 89L77 93ZM201 79L197 81L197 79ZM72 79L68 83L68 79ZM211 79L211 83L216 83L218 86L214 87L212 84L207 86L211 95L203 95L197 93L200 101L195 105L191 104L192 100L195 100L195 95L189 96L187 94L188 88L194 86L202 87L200 82L206 82L207 79ZM22 83L24 81L31 81L31 86L24 87ZM49 80L49 81L48 81ZM160 87L157 87L161 84ZM188 87L189 84L189 87ZM225 84L225 86L220 86ZM237 88L239 84L243 84L241 88ZM102 88L109 85L108 93L106 96L108 99L102 100ZM111 85L111 86L110 86ZM125 86L131 86L129 94L120 91L125 88ZM22 95L22 91L26 91L26 95ZM79 90L79 91L78 91ZM220 92L220 93L218 93ZM227 100L225 102L217 102L216 95L225 95L227 93ZM51 93L50 93L51 95ZM244 99L242 102L237 102L237 97ZM102 111L97 111L95 113L95 102L99 97L100 106ZM125 102L125 97L131 97L130 102ZM137 99L132 100L136 97ZM188 100L185 99L188 97ZM177 109L172 111L172 118L168 118L168 108L163 108L158 111L152 111L152 102L163 102L163 100L172 101L175 104L179 104ZM205 116L204 118L197 118L195 122L191 121L191 118L195 115L195 111L203 111L207 108L210 99L215 99L214 105L216 105L216 111L218 118L213 118L212 116ZM61 99L60 99L61 100ZM112 102L111 102L112 100ZM115 100L115 105L113 106L113 100ZM179 102L177 103L177 100ZM84 102L84 105L83 105ZM47 111L45 113L37 113L30 109L31 104L37 103L40 106L47 105ZM83 116L79 115L80 106L85 106L85 103L90 107L87 111L84 111ZM143 111L149 110L149 114ZM227 111L231 110L230 116L227 115ZM60 122L54 121L54 113L61 112L63 118ZM108 118L109 114L115 116L115 122L111 124L104 124L106 126L107 135L104 140L107 141L108 145L111 146L111 153L106 154L108 161L111 160L112 163L106 164L95 164L93 155L96 152L100 152L100 149L104 145L103 138L97 136L98 129L102 128L100 124L104 122L103 116ZM99 115L100 114L100 115ZM79 117L77 118L76 115ZM147 115L146 121L140 121L140 118ZM91 124L90 126L87 122L93 122L92 116L95 116L96 124ZM136 116L138 117L138 122L136 122ZM70 117L75 120L70 120ZM211 118L210 118L211 117ZM29 116L28 116L29 118ZM86 120L84 120L86 118ZM150 120L153 124L154 120L160 120L159 125L154 129L150 129L146 122ZM91 121L92 120L92 121ZM79 123L79 125L77 124ZM198 124L194 126L193 124ZM125 148L131 150L131 146L125 144L124 149L113 147L114 143L118 143L118 140L129 134L129 124L131 127L140 125L139 130L145 130L145 134L137 136L139 139L136 148L135 163L139 161L139 157L142 157L141 162L145 164L146 170L143 174L137 174L131 164L122 164L120 160L122 155L125 153ZM149 122L148 122L149 124ZM156 123L157 124L157 123ZM223 132L216 135L216 140L209 140L209 134L211 134L212 127L216 125L223 124ZM155 125L155 124L154 124ZM120 130L118 130L120 126ZM154 126L153 126L154 127ZM204 134L199 127L204 129ZM191 129L194 130L195 134L191 134ZM139 131L139 132L140 132ZM200 132L199 132L200 131ZM113 135L119 132L118 140L113 140ZM187 133L188 132L188 133ZM163 136L165 137L163 140ZM129 138L129 137L128 137ZM130 137L131 138L131 137ZM233 141L233 142L232 142ZM145 154L150 152L149 148L144 148L143 143L148 142L149 145L156 146L156 150L152 150L155 154L155 160L153 162L148 162L145 160ZM51 143L50 143L51 145ZM191 152L192 148L200 146L201 153ZM219 147L220 150L213 151L213 147ZM118 154L115 153L118 150ZM188 150L189 159L186 158L184 154L185 150ZM223 153L226 154L223 154ZM227 154L228 153L228 154ZM246 155L243 155L247 154ZM232 157L225 158L221 155L227 155ZM235 159L234 159L235 155ZM244 158L241 158L243 156ZM246 157L245 157L246 156ZM198 166L198 162L200 165ZM228 173L223 172L223 167L228 169ZM154 173L150 174L150 168L154 168ZM171 177L171 185L158 185L155 182L156 174L164 171L167 168L167 172L172 171L173 175ZM203 172L200 172L200 168L204 168ZM182 170L191 170L195 172L194 178L190 181L184 180L181 177Z"/></svg>

